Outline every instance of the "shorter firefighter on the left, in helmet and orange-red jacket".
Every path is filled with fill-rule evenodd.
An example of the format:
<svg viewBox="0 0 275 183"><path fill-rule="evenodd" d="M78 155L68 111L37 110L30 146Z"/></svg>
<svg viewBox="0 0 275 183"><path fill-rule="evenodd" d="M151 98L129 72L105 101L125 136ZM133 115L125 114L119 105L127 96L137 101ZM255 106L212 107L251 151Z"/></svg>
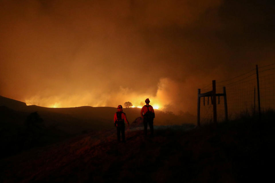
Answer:
<svg viewBox="0 0 275 183"><path fill-rule="evenodd" d="M129 122L126 118L126 114L122 112L122 106L119 105L117 106L117 112L115 113L114 116L114 123L115 127L117 127L117 141L120 142L120 132L122 136L122 142L125 142L125 123L124 120L126 121L128 127L129 127Z"/></svg>

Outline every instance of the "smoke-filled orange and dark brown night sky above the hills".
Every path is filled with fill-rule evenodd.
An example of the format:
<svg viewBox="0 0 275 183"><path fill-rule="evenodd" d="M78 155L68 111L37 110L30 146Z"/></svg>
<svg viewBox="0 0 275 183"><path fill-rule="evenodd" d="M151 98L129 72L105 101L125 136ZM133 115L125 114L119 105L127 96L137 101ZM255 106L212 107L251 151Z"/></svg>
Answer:
<svg viewBox="0 0 275 183"><path fill-rule="evenodd" d="M274 4L0 0L0 95L195 114L198 88L274 62Z"/></svg>

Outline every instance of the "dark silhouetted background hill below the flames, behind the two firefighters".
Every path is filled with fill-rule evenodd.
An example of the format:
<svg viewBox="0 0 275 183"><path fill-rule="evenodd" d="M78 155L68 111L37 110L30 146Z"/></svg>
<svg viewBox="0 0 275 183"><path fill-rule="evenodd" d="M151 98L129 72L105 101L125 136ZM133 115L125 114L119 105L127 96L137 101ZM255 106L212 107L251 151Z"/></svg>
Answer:
<svg viewBox="0 0 275 183"><path fill-rule="evenodd" d="M82 106L75 108L45 108L40 106L26 106L25 103L0 96L0 143L5 151L0 152L0 158L13 155L38 146L45 146L65 140L72 136L95 132L98 130L115 129L113 116L117 111L112 107ZM140 108L125 108L132 127L140 116ZM176 116L155 110L154 125L171 125L192 123L191 116ZM42 118L39 127L28 127L25 123L28 116L37 114ZM142 122L139 121L139 126ZM31 132L30 132L31 131ZM39 140L38 140L39 139Z"/></svg>

